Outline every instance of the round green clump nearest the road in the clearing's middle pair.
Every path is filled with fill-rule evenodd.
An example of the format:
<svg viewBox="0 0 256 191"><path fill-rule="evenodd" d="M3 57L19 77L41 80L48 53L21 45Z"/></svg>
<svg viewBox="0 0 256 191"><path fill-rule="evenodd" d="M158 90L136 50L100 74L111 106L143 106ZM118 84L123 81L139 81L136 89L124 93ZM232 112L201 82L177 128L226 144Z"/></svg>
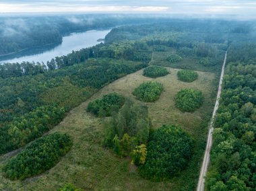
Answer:
<svg viewBox="0 0 256 191"><path fill-rule="evenodd" d="M197 89L181 89L175 97L177 108L183 112L194 112L203 104L203 93Z"/></svg>

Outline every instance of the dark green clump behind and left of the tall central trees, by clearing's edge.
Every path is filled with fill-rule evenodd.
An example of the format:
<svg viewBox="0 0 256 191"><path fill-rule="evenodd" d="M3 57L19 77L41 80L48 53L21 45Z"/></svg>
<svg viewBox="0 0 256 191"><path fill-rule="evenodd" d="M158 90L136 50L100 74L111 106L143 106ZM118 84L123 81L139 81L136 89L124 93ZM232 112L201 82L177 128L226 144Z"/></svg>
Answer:
<svg viewBox="0 0 256 191"><path fill-rule="evenodd" d="M96 116L111 116L114 111L118 111L125 103L125 97L118 93L108 93L102 99L90 102L86 108Z"/></svg>

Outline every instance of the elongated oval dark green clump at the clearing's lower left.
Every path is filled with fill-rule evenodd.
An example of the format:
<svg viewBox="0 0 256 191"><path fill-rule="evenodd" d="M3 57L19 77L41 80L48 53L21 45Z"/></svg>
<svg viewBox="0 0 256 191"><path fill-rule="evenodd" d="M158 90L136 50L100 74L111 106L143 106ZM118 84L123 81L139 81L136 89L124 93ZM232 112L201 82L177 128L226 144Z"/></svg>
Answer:
<svg viewBox="0 0 256 191"><path fill-rule="evenodd" d="M51 169L72 146L68 135L54 133L32 142L3 167L4 175L11 180L24 180Z"/></svg>

